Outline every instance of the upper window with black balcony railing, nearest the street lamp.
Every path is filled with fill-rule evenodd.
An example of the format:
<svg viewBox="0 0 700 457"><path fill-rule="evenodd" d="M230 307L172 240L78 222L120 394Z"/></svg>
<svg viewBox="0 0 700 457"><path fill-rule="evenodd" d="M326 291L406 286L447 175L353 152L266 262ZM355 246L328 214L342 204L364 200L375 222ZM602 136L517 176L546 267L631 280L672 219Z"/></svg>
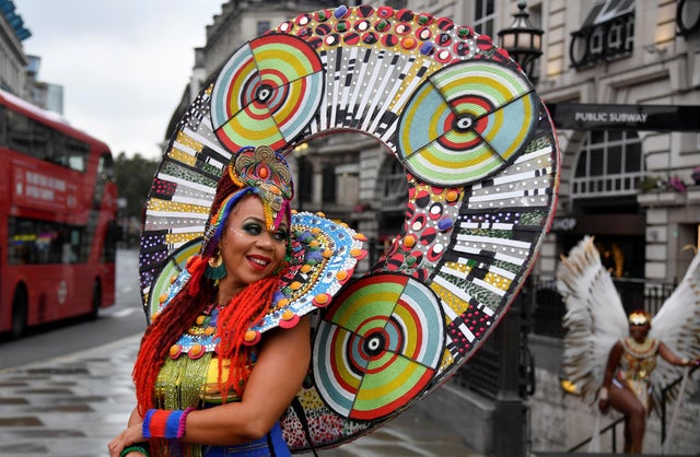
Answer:
<svg viewBox="0 0 700 457"><path fill-rule="evenodd" d="M581 28L571 34L574 68L590 67L632 54L634 0L597 0Z"/></svg>

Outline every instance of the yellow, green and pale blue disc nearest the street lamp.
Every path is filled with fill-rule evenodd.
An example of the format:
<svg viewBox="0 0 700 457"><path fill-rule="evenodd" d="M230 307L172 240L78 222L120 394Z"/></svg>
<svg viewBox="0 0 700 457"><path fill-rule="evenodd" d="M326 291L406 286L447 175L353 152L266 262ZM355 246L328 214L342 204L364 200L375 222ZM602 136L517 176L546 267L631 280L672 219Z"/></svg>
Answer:
<svg viewBox="0 0 700 457"><path fill-rule="evenodd" d="M464 185L505 167L537 120L532 84L494 61L455 63L428 78L401 115L399 157L427 183Z"/></svg>

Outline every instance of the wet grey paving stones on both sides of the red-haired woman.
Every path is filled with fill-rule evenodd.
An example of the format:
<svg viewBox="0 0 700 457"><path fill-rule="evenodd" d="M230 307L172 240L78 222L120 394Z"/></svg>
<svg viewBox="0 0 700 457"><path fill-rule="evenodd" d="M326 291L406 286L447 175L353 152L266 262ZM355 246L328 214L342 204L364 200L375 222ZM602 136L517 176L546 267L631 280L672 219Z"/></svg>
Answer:
<svg viewBox="0 0 700 457"><path fill-rule="evenodd" d="M124 429L135 405L131 368L139 340L135 335L0 371L0 456L107 456L107 442ZM420 403L374 433L318 456L483 457Z"/></svg>

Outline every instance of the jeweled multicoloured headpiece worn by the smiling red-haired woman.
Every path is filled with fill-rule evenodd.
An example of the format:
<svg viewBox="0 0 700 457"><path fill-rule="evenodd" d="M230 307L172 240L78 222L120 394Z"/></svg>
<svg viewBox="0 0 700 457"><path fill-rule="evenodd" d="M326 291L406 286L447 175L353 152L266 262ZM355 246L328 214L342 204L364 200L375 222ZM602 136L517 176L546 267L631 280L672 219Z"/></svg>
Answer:
<svg viewBox="0 0 700 457"><path fill-rule="evenodd" d="M292 174L284 157L270 147L242 148L224 173L238 190L228 196L211 215L205 231L203 257L213 254L231 210L247 194L254 194L262 201L265 223L269 230L276 230L291 211L290 201L294 197Z"/></svg>

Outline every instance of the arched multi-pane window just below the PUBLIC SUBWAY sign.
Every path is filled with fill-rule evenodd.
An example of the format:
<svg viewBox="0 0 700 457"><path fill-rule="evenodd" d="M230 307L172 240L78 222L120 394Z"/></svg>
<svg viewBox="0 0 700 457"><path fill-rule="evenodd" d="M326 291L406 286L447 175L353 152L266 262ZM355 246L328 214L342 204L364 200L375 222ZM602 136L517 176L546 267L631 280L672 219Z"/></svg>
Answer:
<svg viewBox="0 0 700 457"><path fill-rule="evenodd" d="M573 168L571 198L634 195L643 174L637 132L593 130L586 133Z"/></svg>

